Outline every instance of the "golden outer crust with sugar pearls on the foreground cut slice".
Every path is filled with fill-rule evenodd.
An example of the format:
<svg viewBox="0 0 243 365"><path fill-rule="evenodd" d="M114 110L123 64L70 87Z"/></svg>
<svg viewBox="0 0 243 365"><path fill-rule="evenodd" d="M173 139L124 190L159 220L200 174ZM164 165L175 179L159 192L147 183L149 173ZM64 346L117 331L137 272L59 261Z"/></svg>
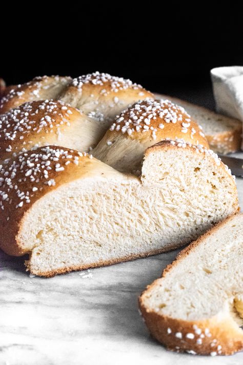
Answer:
<svg viewBox="0 0 243 365"><path fill-rule="evenodd" d="M147 312L141 299L139 306L151 335L168 350L211 356L232 355L243 350L243 334L227 317L183 321ZM181 338L177 338L176 334ZM188 334L194 337L187 338Z"/></svg>

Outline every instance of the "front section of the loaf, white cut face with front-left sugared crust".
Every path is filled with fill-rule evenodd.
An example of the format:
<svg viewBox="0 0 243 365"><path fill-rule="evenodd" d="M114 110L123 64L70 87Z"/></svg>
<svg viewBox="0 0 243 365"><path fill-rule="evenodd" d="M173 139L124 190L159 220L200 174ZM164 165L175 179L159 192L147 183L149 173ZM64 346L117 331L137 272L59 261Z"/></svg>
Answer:
<svg viewBox="0 0 243 365"><path fill-rule="evenodd" d="M140 179L61 147L8 159L0 177L1 247L42 276L168 251L238 209L226 166L179 143L148 148Z"/></svg>

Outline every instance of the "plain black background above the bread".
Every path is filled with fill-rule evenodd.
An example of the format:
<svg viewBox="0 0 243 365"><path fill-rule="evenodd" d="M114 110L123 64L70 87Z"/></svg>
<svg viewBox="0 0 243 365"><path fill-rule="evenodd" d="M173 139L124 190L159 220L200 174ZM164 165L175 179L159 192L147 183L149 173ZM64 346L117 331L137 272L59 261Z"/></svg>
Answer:
<svg viewBox="0 0 243 365"><path fill-rule="evenodd" d="M3 27L1 77L18 84L99 70L213 107L210 69L243 65L238 4L21 6Z"/></svg>

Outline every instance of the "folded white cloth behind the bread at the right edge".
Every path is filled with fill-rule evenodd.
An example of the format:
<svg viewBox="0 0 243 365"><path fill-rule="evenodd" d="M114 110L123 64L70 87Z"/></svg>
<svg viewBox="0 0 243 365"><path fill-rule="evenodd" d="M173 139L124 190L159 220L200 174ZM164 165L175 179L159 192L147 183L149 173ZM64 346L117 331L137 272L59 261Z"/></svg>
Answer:
<svg viewBox="0 0 243 365"><path fill-rule="evenodd" d="M243 67L217 67L211 70L216 110L243 123ZM243 149L243 141L241 142Z"/></svg>

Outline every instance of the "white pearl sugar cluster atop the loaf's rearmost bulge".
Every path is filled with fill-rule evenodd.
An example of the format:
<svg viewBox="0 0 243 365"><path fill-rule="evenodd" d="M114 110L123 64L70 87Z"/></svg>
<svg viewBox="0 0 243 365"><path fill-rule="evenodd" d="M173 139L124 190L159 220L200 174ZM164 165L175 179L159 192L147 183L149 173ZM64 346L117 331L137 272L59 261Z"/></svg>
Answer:
<svg viewBox="0 0 243 365"><path fill-rule="evenodd" d="M100 91L100 93L104 96L107 96L111 91L118 92L119 90L127 90L128 88L132 88L134 90L142 88L141 85L134 84L129 79L111 76L109 73L100 73L98 71L79 76L78 78L73 79L72 82L72 86L75 86L78 91L82 91L84 84L104 86L104 88ZM114 102L118 103L118 99L114 99Z"/></svg>

